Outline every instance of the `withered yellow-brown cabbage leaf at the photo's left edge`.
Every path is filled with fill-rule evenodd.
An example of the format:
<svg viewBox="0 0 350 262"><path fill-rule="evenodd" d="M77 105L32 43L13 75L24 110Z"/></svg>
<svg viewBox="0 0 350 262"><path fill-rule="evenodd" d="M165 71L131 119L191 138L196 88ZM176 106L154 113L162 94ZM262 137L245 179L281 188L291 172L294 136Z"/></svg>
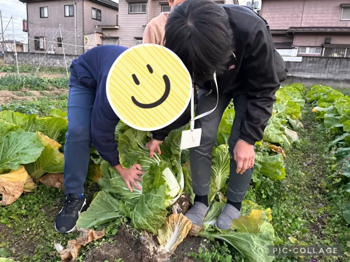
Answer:
<svg viewBox="0 0 350 262"><path fill-rule="evenodd" d="M0 175L0 195L2 195L0 204L5 206L16 201L23 193L23 186L29 178L23 166Z"/></svg>

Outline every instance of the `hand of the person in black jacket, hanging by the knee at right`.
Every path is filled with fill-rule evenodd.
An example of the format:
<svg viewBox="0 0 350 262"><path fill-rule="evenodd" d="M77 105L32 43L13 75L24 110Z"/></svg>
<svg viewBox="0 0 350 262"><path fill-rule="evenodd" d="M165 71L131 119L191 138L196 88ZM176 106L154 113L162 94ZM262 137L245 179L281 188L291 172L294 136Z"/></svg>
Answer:
<svg viewBox="0 0 350 262"><path fill-rule="evenodd" d="M243 174L247 169L254 166L255 152L254 146L238 140L233 149L233 159L237 163L237 174Z"/></svg>

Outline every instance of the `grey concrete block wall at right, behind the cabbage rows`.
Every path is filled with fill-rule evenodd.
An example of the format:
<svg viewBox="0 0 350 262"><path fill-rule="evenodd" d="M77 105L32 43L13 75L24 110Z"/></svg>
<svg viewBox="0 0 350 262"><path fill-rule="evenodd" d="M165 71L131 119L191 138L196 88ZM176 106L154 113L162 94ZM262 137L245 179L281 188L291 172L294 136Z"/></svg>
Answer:
<svg viewBox="0 0 350 262"><path fill-rule="evenodd" d="M302 57L285 64L292 77L350 81L350 58Z"/></svg>

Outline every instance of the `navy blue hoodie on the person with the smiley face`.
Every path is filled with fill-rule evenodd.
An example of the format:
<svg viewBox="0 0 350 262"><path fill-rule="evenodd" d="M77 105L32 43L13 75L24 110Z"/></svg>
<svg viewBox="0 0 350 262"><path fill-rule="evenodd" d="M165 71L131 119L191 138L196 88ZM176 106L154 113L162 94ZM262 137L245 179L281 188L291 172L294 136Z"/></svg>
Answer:
<svg viewBox="0 0 350 262"><path fill-rule="evenodd" d="M119 45L100 45L80 55L70 65L69 87L80 85L96 92L91 116L91 141L100 156L111 166L120 163L118 145L114 137L119 118L109 105L106 80L115 59L126 49L127 47ZM167 127L153 131L152 136L163 141L171 130L185 125L189 120L188 105L181 117Z"/></svg>

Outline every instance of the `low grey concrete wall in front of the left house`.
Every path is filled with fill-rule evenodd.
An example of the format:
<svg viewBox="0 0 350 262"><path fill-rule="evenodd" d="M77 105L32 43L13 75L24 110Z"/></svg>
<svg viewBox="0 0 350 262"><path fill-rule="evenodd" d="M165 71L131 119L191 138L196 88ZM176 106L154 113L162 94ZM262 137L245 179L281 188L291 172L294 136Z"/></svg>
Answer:
<svg viewBox="0 0 350 262"><path fill-rule="evenodd" d="M41 53L20 53L17 56L18 63L39 65L44 54ZM78 55L65 55L67 60L68 70L71 62L78 58ZM4 52L4 59L7 64L15 64L16 58L12 52ZM62 54L46 54L41 66L59 66L65 67L64 56Z"/></svg>

